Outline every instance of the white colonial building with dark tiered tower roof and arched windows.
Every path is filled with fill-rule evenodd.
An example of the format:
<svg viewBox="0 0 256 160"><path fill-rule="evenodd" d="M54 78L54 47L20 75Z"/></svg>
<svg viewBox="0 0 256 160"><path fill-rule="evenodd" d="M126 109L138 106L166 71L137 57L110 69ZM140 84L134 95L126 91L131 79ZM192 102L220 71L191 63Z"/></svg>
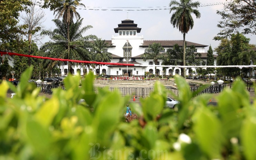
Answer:
<svg viewBox="0 0 256 160"><path fill-rule="evenodd" d="M143 64L146 65L153 65L153 60L147 60L146 62L143 61L141 55L144 53L145 49L152 43L160 43L164 48L162 53L166 52L167 49L172 48L175 44L179 46L183 45L183 40L174 41L174 40L144 40L143 36L138 35L140 33L141 28L137 27L137 24L134 23L132 20L123 20L121 24L118 24L117 28L114 28L116 36L112 36L111 40L107 40L106 42L110 45L108 48L108 52L112 54L111 63L123 63L123 64L142 64L142 66L118 66L118 65L103 65L100 66L100 69L96 67L94 69L94 74L102 74L109 76L121 76L124 75L127 71L129 76L144 76L145 72L149 73L157 73L158 75L175 75L180 74L181 69L175 67L167 68L167 70L163 70L162 67L157 67L155 72L155 67L143 67ZM196 48L196 52L201 53L201 58L206 61L207 52L205 52L205 47L207 45L193 43L186 41L187 45L194 45ZM127 62L128 58L128 62ZM214 55L214 64L216 65L216 55ZM159 60L158 64L161 65L162 61ZM192 68L192 70L195 70ZM86 74L86 71L83 71L81 67L74 67L74 74L77 72L81 72L81 74ZM192 75L186 70L186 75ZM62 75L67 74L67 65L61 67Z"/></svg>

